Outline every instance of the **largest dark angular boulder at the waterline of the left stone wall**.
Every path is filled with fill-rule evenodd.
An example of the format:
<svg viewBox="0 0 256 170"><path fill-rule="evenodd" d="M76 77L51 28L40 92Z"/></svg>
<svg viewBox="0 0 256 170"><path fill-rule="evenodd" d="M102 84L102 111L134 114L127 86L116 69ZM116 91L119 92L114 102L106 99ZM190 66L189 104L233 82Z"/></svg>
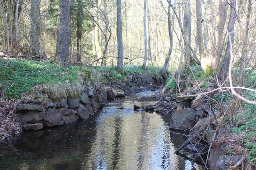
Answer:
<svg viewBox="0 0 256 170"><path fill-rule="evenodd" d="M43 125L47 127L56 126L61 120L61 113L58 109L48 109L46 116L43 118Z"/></svg>

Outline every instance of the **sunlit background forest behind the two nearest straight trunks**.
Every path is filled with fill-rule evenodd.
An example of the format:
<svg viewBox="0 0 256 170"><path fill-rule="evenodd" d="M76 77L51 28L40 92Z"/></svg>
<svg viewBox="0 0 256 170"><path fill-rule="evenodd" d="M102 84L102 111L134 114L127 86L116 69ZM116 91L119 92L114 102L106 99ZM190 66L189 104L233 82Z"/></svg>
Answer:
<svg viewBox="0 0 256 170"><path fill-rule="evenodd" d="M253 68L254 4L250 0L172 0L168 7L163 0L123 0L123 57L128 58L124 65L141 65L147 56L147 64L156 66L163 66L170 57L173 70L200 61L204 70L206 65L227 69L229 32L238 68ZM92 64L107 57L100 60L101 65L115 65L117 58L111 57L117 56L116 1L72 0L69 8L69 61ZM1 15L4 54L18 58L40 54L41 60L54 60L57 0L1 0Z"/></svg>

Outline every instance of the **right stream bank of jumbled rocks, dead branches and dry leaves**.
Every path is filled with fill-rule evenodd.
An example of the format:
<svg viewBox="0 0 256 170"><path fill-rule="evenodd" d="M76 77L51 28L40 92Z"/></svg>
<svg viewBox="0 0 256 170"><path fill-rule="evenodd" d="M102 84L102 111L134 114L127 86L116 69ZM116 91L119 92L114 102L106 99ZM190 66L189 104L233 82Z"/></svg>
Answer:
<svg viewBox="0 0 256 170"><path fill-rule="evenodd" d="M154 104L154 111L168 122L171 133L186 136L175 153L189 150L191 159L198 158L211 170L239 170L242 152L231 154L230 146L218 140L228 135L223 126L225 115L211 109L211 97L199 93L195 87L182 90L181 94L164 88Z"/></svg>

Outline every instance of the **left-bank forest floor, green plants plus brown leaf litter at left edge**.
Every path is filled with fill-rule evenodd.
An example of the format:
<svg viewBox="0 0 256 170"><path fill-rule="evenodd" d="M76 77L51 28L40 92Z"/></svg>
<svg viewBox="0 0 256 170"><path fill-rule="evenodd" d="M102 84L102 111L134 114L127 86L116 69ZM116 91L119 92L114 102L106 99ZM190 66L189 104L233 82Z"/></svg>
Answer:
<svg viewBox="0 0 256 170"><path fill-rule="evenodd" d="M49 84L72 84L79 77L99 83L128 79L128 75L160 75L161 68L147 66L124 67L124 75L112 67L70 66L64 69L51 62L0 59L0 143L15 140L22 132L21 121L15 114L15 104L24 98L44 95ZM107 76L102 76L102 75Z"/></svg>

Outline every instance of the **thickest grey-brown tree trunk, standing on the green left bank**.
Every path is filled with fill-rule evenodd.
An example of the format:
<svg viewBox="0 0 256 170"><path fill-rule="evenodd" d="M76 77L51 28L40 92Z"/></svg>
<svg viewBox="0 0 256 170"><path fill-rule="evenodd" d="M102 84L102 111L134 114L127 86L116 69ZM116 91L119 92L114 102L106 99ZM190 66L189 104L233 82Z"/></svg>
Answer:
<svg viewBox="0 0 256 170"><path fill-rule="evenodd" d="M58 30L56 43L56 64L68 68L68 53L70 43L70 0L59 0Z"/></svg>

